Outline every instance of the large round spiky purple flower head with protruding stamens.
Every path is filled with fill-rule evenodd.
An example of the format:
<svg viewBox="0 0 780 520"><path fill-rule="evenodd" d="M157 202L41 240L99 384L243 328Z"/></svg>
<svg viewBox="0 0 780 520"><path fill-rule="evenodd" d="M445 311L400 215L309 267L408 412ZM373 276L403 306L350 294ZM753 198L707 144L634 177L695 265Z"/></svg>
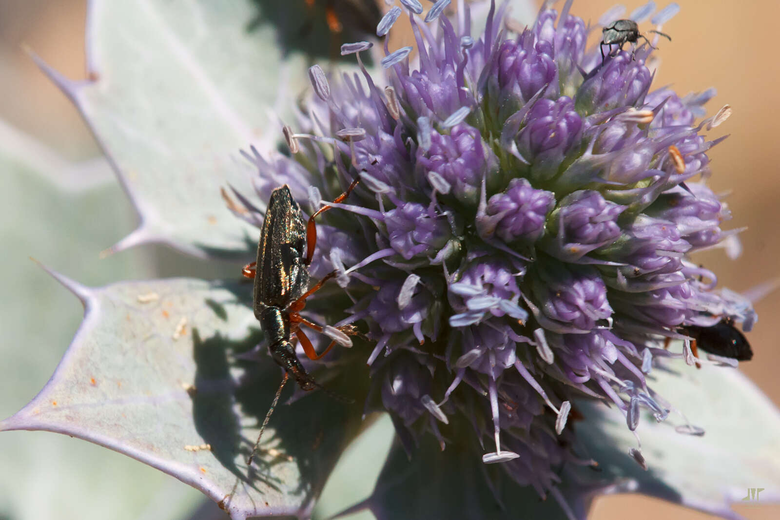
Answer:
<svg viewBox="0 0 780 520"><path fill-rule="evenodd" d="M663 420L644 373L693 356L664 338L755 321L689 256L729 234L704 185L717 141L694 122L711 94L652 92L653 49L602 60L570 7L515 33L502 9L480 34L467 15L412 16L417 55L386 47L383 77L313 73L294 153L252 157L259 197L286 182L308 214L358 179L318 221L313 272L337 271L341 299L310 301L370 347L331 370L371 366L405 445L481 443L473 457L541 496L579 460L574 398L611 403L629 431L643 408Z"/></svg>

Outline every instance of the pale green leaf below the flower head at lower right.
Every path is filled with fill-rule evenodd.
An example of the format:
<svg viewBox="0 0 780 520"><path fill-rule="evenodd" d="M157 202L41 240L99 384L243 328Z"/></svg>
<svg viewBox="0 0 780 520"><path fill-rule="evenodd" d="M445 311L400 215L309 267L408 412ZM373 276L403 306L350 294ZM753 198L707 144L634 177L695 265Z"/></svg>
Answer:
<svg viewBox="0 0 780 520"><path fill-rule="evenodd" d="M729 504L750 487L763 487L761 501L780 500L780 414L775 405L738 370L679 367L679 373L654 370L648 384L679 409L703 437L684 435L679 414L663 423L645 414L636 430L647 472L629 457L636 439L615 409L580 403L585 420L576 424L587 457L594 458L605 492L638 492L739 518Z"/></svg>

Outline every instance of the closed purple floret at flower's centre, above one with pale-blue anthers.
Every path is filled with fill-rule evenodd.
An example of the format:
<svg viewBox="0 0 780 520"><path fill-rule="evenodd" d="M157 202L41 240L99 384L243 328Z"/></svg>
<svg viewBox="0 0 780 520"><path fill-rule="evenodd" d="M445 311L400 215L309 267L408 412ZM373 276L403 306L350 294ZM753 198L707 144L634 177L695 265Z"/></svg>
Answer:
<svg viewBox="0 0 780 520"><path fill-rule="evenodd" d="M527 179L512 179L504 193L488 201L481 232L484 236L495 233L504 242L537 240L544 234L545 218L553 206L554 193L534 189Z"/></svg>

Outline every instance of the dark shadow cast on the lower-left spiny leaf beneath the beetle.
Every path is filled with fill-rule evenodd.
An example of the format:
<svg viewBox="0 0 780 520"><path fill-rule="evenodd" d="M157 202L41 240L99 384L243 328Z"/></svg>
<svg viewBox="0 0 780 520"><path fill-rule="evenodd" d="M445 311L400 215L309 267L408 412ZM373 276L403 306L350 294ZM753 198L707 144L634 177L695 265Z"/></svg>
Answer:
<svg viewBox="0 0 780 520"><path fill-rule="evenodd" d="M232 289L236 300L244 299L245 285ZM296 395L296 399L288 397L292 391L285 392L268 423L260 456L253 467L247 467L257 426L268 411L281 369L271 356L256 354L258 345L260 352L267 350L259 328L250 329L238 341L219 333L202 338L196 328L192 335L196 373L190 398L195 428L220 464L236 476L236 488L281 491L290 483L275 475L275 467L291 462L297 465L300 480L296 490L288 493L306 493L324 485L346 440L360 430L362 407L345 406L322 391L307 392L302 398ZM359 382L363 380L367 378ZM355 389L348 387L355 383L343 377L333 381L337 390L352 394Z"/></svg>

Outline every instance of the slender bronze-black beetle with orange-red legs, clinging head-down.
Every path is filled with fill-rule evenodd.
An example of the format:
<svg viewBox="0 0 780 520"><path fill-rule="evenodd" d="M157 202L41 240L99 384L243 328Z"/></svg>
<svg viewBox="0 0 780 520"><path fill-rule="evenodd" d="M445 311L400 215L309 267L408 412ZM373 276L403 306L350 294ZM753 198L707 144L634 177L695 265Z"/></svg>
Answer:
<svg viewBox="0 0 780 520"><path fill-rule="evenodd" d="M355 188L357 181L358 179L355 179L346 192L336 197L333 202L340 203L346 199ZM285 184L275 189L271 193L271 200L265 211L260 241L257 242L257 261L243 267L243 275L246 278L254 278L254 316L260 321L268 338L271 356L285 369L285 376L260 427L257 443L254 444L247 465L252 464L263 430L268 424L268 419L271 419L271 413L287 380L293 377L303 390L321 388L300 364L291 341L293 334L300 341L303 352L309 359L320 359L336 343L346 347L352 346L352 341L347 334L358 334L350 325L339 328L321 327L300 315L300 311L306 306L306 299L319 291L322 285L336 274L336 271L332 271L314 287L308 288L309 264L314 257L314 247L317 245L317 225L314 219L331 208L332 206L328 205L321 207L310 216L307 223L304 223L303 214L298 203L293 199L289 187ZM317 354L307 335L300 329L301 325L326 334L333 341L324 352Z"/></svg>

